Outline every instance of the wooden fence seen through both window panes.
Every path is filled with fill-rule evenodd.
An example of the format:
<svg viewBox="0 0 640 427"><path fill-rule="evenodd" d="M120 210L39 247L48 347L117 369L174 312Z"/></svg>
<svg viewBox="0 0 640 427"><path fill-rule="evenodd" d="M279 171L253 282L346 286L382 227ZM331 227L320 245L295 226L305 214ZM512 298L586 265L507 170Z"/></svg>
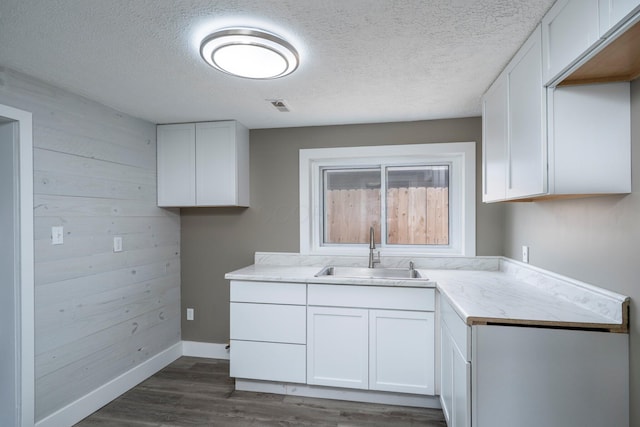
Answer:
<svg viewBox="0 0 640 427"><path fill-rule="evenodd" d="M327 243L368 243L372 225L380 243L380 190L327 191L326 212ZM388 244L449 244L448 188L390 188L387 216Z"/></svg>

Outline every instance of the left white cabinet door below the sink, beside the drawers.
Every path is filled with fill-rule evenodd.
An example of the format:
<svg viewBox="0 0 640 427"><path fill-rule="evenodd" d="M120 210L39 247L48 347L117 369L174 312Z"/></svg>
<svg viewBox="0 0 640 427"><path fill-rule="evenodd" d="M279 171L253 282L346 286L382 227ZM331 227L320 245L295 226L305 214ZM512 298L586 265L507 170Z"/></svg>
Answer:
<svg viewBox="0 0 640 427"><path fill-rule="evenodd" d="M367 389L368 311L307 308L307 383Z"/></svg>

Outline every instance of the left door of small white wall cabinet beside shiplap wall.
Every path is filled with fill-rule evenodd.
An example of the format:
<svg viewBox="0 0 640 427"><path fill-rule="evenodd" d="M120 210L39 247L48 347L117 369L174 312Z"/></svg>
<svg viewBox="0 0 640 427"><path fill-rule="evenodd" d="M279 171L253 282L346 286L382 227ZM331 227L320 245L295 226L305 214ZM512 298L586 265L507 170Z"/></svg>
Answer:
<svg viewBox="0 0 640 427"><path fill-rule="evenodd" d="M158 206L195 206L195 126L157 127Z"/></svg>

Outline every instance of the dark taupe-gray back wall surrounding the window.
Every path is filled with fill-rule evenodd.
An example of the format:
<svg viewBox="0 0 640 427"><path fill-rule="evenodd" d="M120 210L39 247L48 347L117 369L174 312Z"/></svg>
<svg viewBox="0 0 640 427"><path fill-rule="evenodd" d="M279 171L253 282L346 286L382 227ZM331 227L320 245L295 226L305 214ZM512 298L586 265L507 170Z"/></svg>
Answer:
<svg viewBox="0 0 640 427"><path fill-rule="evenodd" d="M182 209L184 340L229 339L228 271L256 251L299 252L298 151L301 148L476 141L480 189L480 118L251 131L251 207ZM478 203L477 254L502 253L501 205Z"/></svg>

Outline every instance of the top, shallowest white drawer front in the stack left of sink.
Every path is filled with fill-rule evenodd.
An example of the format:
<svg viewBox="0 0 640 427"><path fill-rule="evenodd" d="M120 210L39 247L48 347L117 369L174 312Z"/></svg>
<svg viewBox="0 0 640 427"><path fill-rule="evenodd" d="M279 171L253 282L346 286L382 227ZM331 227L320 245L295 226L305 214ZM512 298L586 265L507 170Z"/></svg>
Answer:
<svg viewBox="0 0 640 427"><path fill-rule="evenodd" d="M307 285L304 283L231 281L231 302L257 302L267 304L307 303Z"/></svg>

